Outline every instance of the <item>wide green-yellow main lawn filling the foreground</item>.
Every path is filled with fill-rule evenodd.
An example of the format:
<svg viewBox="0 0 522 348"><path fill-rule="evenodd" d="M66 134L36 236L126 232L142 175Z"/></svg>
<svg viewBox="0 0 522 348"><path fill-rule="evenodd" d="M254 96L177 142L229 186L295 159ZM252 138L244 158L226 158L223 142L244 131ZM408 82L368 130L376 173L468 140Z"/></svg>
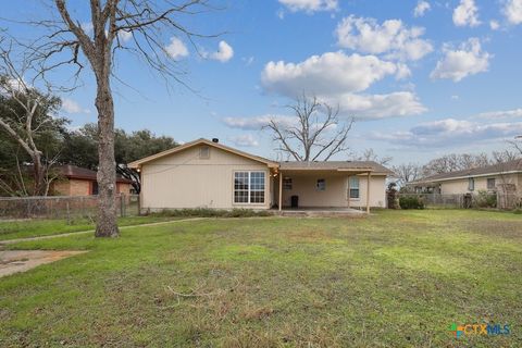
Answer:
<svg viewBox="0 0 522 348"><path fill-rule="evenodd" d="M522 346L515 214L201 220L10 248L90 252L0 279L2 347ZM511 335L449 332L484 322Z"/></svg>

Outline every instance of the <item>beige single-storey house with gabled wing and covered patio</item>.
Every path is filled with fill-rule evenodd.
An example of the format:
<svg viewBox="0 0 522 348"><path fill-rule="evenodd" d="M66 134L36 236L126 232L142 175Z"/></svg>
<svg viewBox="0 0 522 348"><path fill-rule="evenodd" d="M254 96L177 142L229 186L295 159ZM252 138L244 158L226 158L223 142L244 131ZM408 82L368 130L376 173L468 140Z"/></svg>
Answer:
<svg viewBox="0 0 522 348"><path fill-rule="evenodd" d="M198 139L128 166L140 172L144 211L385 207L391 174L372 161L274 162L217 139Z"/></svg>

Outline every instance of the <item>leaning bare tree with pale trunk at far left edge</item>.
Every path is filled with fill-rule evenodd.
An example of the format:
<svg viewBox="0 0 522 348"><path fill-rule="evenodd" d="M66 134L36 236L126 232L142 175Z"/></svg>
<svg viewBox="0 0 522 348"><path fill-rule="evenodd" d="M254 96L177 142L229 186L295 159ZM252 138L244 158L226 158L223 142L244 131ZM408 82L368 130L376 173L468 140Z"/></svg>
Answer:
<svg viewBox="0 0 522 348"><path fill-rule="evenodd" d="M11 59L11 48L2 46L0 38L0 95L2 105L0 110L0 128L26 152L32 161L33 188L29 190L25 185L25 173L16 157L16 172L10 173L17 189L2 181L2 187L12 195L47 196L49 185L54 176L49 170L57 161L55 158L44 157L37 146L37 138L49 130L49 127L59 126L60 120L53 120L47 111L57 109L60 100L50 94L42 94L29 86L24 75L29 70L28 65L15 66Z"/></svg>

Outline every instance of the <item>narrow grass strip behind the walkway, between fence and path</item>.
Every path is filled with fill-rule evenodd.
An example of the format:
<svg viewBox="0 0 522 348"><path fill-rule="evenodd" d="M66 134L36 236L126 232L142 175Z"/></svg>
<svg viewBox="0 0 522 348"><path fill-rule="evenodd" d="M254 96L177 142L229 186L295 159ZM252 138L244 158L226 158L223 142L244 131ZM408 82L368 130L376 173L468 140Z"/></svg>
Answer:
<svg viewBox="0 0 522 348"><path fill-rule="evenodd" d="M176 220L178 217L166 216L128 216L119 217L120 226L140 225L154 222ZM49 236L70 232L94 229L92 220L73 219L70 223L66 220L0 220L0 240L27 238L37 236Z"/></svg>

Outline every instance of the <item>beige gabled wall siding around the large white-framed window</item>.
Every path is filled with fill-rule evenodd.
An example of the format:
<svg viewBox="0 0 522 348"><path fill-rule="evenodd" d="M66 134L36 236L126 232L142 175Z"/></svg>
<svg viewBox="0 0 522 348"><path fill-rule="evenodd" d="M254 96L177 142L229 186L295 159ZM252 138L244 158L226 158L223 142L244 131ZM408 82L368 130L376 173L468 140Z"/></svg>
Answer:
<svg viewBox="0 0 522 348"><path fill-rule="evenodd" d="M141 166L141 208L270 208L270 171L266 164L210 147L210 158L200 159L204 145L159 158ZM264 203L234 203L234 172L265 173Z"/></svg>

